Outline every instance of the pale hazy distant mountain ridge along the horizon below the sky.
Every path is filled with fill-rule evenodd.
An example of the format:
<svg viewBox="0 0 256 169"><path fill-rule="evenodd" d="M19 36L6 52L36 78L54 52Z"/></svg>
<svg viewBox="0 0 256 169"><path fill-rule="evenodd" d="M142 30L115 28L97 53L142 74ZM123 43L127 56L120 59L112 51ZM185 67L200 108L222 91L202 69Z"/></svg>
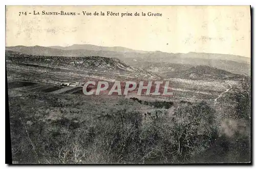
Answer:
<svg viewBox="0 0 256 169"><path fill-rule="evenodd" d="M230 54L196 52L167 53L161 51L152 52L133 50L124 47L101 47L96 45L72 45L68 47L12 46L6 47L6 50L22 52L25 54L56 57L99 56L106 58L118 58L121 61L138 68L141 67L140 65L143 65L143 67L149 67L153 63L154 68L160 70L162 69L162 64L159 64L159 66L157 66L157 63L172 63L180 65L187 64L191 66L205 65L218 69L223 69L232 73L250 75L250 58ZM169 68L165 67L165 69L172 72L172 70L176 70L175 67L170 66ZM151 69L148 68L148 70Z"/></svg>

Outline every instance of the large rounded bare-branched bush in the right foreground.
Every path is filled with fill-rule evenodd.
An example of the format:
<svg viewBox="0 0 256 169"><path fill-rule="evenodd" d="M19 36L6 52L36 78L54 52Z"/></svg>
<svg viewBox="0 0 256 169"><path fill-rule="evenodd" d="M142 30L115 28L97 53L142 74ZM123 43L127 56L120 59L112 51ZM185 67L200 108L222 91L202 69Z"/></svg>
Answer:
<svg viewBox="0 0 256 169"><path fill-rule="evenodd" d="M179 159L190 160L214 142L218 136L215 114L215 110L205 102L177 109L173 133Z"/></svg>

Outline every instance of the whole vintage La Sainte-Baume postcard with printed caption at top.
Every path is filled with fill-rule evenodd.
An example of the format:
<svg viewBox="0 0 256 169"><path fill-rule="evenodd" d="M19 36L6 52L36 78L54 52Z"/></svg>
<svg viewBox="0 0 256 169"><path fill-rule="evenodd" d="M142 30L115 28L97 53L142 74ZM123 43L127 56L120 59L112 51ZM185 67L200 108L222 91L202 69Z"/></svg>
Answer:
<svg viewBox="0 0 256 169"><path fill-rule="evenodd" d="M12 163L250 163L250 10L6 6Z"/></svg>

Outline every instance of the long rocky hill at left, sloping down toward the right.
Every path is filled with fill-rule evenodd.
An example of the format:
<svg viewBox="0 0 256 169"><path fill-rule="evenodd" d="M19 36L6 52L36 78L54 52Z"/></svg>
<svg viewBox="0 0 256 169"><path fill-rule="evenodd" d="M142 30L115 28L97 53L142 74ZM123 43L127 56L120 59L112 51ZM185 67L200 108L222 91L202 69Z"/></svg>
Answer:
<svg viewBox="0 0 256 169"><path fill-rule="evenodd" d="M26 66L25 69L40 72L49 71L74 72L90 76L102 76L111 79L115 78L135 78L135 79L159 79L160 76L136 68L120 61L117 58L104 57L49 57L41 55L28 55L23 53L13 53L6 51L6 59L10 64Z"/></svg>

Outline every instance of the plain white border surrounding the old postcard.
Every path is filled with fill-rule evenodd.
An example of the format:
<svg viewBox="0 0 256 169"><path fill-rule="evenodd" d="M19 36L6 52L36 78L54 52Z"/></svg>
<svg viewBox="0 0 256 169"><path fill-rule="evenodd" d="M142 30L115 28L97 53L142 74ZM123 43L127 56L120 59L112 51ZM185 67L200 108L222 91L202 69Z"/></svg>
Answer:
<svg viewBox="0 0 256 169"><path fill-rule="evenodd" d="M75 1L75 0L72 0L72 1L67 1L67 0L63 0L63 1L59 1L59 2L53 2L52 0L44 0L44 1L32 1L32 0L29 0L29 1L26 1L26 0L23 0L23 1L1 1L1 15L0 15L0 18L1 18L1 23L2 23L2 27L1 27L1 39L2 39L2 43L1 43L1 57L0 57L0 76L1 76L1 83L0 83L0 89L1 89L1 93L0 93L0 96L1 96L1 100L0 100L0 107L1 107L1 120L2 120L2 125L1 125L1 136L2 136L2 139L1 139L1 146L0 146L0 153L1 153L1 168L4 168L4 167L8 167L8 165L5 164L5 27L4 27L4 22L5 22L5 6L4 5L251 5L252 8L256 7L255 5L255 0L243 0L243 1L223 1L223 0L215 0L215 1L199 1L199 0L193 0L193 1L185 1L185 0L179 0L179 1L164 1L164 0L155 0L155 1L138 1L138 0L130 0L130 1L104 1L104 0L93 0L93 1ZM255 9L254 9L254 15L255 15ZM255 23L255 17L253 17L253 23ZM254 27L254 30L255 30L255 27ZM251 30L252 31L252 30ZM255 38L254 36L252 37L253 40L255 41ZM255 48L255 44L253 44L253 46L251 46L252 48ZM255 52L252 53L252 55L254 55ZM253 65L255 67L255 59L253 60ZM253 68L253 72L254 72L254 68ZM253 74L252 74L253 75ZM254 76L254 75L253 75ZM255 79L255 77L253 77L253 79ZM254 92L253 92L253 95L255 96L255 81L253 81L253 89L254 89ZM256 101L255 99L253 99L253 103L252 105L256 105ZM255 109L254 109L255 110ZM253 114L253 112L252 112ZM255 115L253 115L253 122L255 123ZM253 130L252 131L255 131L255 125L253 125ZM254 137L254 135L253 135ZM253 140L253 146L255 147L255 140ZM255 152L255 148L253 147L253 152ZM255 163L255 155L253 155L253 162ZM209 168L214 168L214 167L217 167L218 165L216 166L207 166ZM34 166L24 166L24 168L27 168L27 167L34 167ZM42 168L44 166L37 166L38 168ZM61 166L48 166L50 168L52 167L65 167L63 165ZM71 166L66 166L66 167L71 167ZM75 166L72 166L71 168L73 168ZM84 166L84 167L87 167L87 168L91 168L91 167L101 167L101 166ZM122 167L121 165L118 165L118 166L108 166L108 167ZM127 167L127 166L126 166ZM152 167L152 166L142 166L142 165L139 165L139 166L129 166L131 168L138 168L138 167ZM153 166L153 167L159 167L159 166ZM163 168L166 168L166 167L174 167L174 166L161 166ZM187 165L181 165L181 166L177 166L177 167L183 167L183 168L195 168L195 167L205 167L205 166L187 166ZM227 166L227 165L224 165L224 166L218 166L218 168L224 168L224 167L230 167L230 166ZM237 167L237 168L245 168L246 166L241 166L241 165L238 165L238 166L231 166L232 168L233 167Z"/></svg>

